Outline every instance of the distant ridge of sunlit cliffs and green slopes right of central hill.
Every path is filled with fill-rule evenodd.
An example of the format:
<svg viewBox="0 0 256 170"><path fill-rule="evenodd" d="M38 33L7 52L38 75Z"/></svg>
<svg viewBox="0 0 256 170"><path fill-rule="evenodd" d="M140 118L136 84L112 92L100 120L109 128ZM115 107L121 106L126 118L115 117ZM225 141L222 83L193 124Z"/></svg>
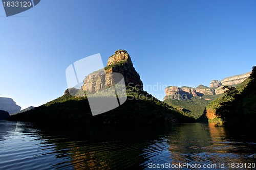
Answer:
<svg viewBox="0 0 256 170"><path fill-rule="evenodd" d="M210 87L200 84L198 87L177 87L165 88L164 101L169 106L182 110L185 115L194 117L200 121L218 121L214 109L206 109L211 101L217 100L223 95L224 86L239 86L250 76L251 72L242 75L231 76L221 81L212 80Z"/></svg>

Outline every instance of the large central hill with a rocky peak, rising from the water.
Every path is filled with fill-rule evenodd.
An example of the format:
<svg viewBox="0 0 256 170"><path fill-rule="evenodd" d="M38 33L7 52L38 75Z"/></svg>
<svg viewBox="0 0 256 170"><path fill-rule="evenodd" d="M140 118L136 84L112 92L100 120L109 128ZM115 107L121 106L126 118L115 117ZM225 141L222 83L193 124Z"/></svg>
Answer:
<svg viewBox="0 0 256 170"><path fill-rule="evenodd" d="M126 84L127 100L114 110L92 116L84 91L98 94L101 89L114 84L111 72L123 75ZM175 123L190 122L192 119L151 94L143 91L143 83L133 67L129 54L118 50L109 58L104 70L88 75L81 89L67 89L56 100L29 111L9 117L9 120L43 123ZM75 91L75 92L73 92ZM71 95L71 94L76 94ZM104 93L104 95L108 95ZM119 95L118 95L119 97Z"/></svg>

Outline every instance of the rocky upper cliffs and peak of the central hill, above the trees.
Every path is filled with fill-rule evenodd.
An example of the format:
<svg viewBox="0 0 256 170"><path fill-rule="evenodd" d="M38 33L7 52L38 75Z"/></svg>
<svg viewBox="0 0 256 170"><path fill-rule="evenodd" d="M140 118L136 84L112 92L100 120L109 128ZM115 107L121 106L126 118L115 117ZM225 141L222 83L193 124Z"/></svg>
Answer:
<svg viewBox="0 0 256 170"><path fill-rule="evenodd" d="M123 75L125 85L143 88L143 83L140 80L138 72L133 67L130 55L125 50L117 50L112 55L108 64L104 69L93 72L83 80L83 91L97 92L104 87L109 87L118 79L112 73L120 73Z"/></svg>

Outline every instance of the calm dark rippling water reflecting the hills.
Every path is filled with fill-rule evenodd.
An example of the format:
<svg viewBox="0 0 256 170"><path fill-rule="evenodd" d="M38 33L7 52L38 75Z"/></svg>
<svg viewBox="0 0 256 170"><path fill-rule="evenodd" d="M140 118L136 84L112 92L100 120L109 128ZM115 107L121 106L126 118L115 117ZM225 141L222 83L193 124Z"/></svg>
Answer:
<svg viewBox="0 0 256 170"><path fill-rule="evenodd" d="M191 167L174 169L256 169L244 167L255 163L255 151L252 140L214 124L39 128L0 122L0 169L153 169L165 163L166 169L179 163ZM237 162L243 167L231 168Z"/></svg>

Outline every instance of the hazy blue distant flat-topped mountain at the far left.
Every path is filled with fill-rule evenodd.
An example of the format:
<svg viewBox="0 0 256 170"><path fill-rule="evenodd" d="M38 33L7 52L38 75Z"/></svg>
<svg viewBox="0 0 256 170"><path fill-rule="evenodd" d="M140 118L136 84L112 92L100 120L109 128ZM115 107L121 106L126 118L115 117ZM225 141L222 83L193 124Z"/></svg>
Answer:
<svg viewBox="0 0 256 170"><path fill-rule="evenodd" d="M20 111L20 109L21 107L16 105L11 98L0 98L0 110L4 110L9 114L12 114Z"/></svg>

